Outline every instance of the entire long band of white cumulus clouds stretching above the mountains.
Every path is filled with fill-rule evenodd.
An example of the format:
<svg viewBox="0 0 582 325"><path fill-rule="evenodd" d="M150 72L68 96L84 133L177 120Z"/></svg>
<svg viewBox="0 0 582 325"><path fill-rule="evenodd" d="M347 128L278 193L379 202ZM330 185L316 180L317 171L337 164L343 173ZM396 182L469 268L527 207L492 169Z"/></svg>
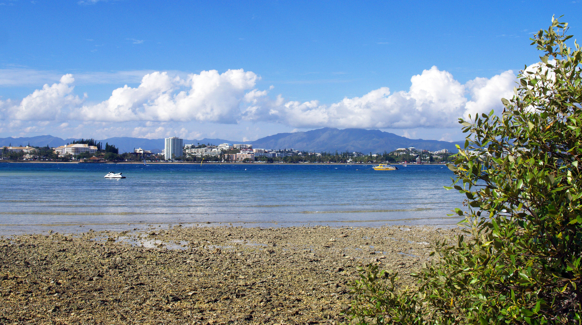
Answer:
<svg viewBox="0 0 582 325"><path fill-rule="evenodd" d="M38 123L50 122L55 128L73 125L74 121L100 123L104 134L116 130L111 128L113 123L131 122L126 133L145 137L190 134L184 123L194 122L267 122L296 128L450 128L458 127L457 119L468 114L491 109L501 112L501 98L512 97L516 80L508 70L462 84L449 72L433 66L411 77L408 91L391 92L381 87L360 97L325 104L272 96L272 87L255 88L260 77L243 69L187 76L151 72L142 76L137 87L125 85L113 90L105 101L86 103L86 96L73 94L73 76L65 74L59 83L45 84L20 102L0 101L0 119L9 122L4 123L6 130L19 132L24 130L21 122L26 121L36 123L29 124L38 126L38 132L48 128Z"/></svg>

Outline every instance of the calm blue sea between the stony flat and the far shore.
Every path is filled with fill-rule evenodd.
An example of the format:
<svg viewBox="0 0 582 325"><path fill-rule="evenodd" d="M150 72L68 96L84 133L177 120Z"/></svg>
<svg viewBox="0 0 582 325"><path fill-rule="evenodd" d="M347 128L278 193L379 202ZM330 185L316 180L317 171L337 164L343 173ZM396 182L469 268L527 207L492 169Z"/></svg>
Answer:
<svg viewBox="0 0 582 325"><path fill-rule="evenodd" d="M148 224L449 226L446 166L0 163L0 234ZM104 178L109 172L127 178ZM128 226L127 224L130 223Z"/></svg>

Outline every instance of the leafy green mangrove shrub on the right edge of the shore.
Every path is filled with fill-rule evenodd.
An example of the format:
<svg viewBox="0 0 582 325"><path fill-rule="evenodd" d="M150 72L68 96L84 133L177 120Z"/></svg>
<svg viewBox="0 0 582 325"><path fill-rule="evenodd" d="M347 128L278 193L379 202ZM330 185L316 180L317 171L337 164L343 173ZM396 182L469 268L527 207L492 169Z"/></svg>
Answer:
<svg viewBox="0 0 582 325"><path fill-rule="evenodd" d="M580 324L582 51L567 29L552 18L531 38L541 62L501 115L460 119L468 135L449 168L465 234L435 244L414 288L360 269L353 323Z"/></svg>

